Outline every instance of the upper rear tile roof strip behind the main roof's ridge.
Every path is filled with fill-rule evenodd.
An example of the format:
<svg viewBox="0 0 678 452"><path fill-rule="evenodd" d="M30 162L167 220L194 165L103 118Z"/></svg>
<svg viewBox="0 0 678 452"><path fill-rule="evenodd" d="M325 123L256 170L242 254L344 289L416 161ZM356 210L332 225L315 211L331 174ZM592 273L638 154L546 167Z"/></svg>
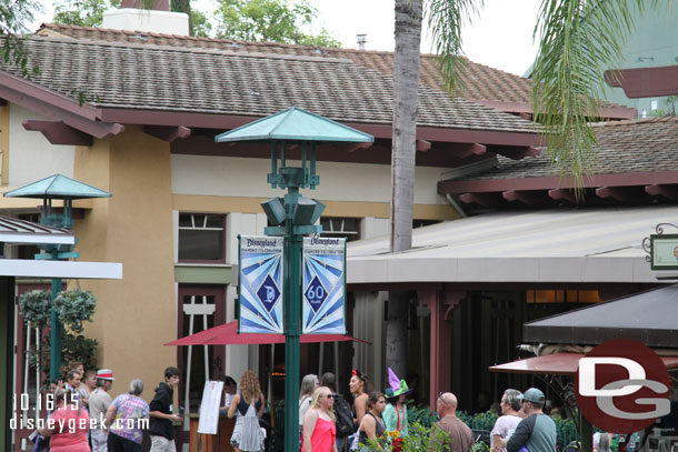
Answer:
<svg viewBox="0 0 678 452"><path fill-rule="evenodd" d="M338 48L313 48L309 46L282 44L277 42L246 42L229 39L196 38L178 34L152 33L103 28L64 26L43 23L38 30L40 34L70 37L79 40L96 40L110 42L146 43L156 46L189 47L203 49L229 49L235 52L265 52L285 54L306 54L312 57L347 58L366 68L376 69L392 74L393 53L385 51L368 51ZM531 112L531 81L466 59L463 89L460 96L479 102L501 103L500 110ZM421 54L420 84L442 90L442 77L432 54ZM508 106L514 104L514 106ZM519 106L517 106L519 104ZM499 107L499 106L497 106ZM631 118L636 110L602 102L602 107L616 110L615 118ZM615 114L608 112L609 114ZM620 115L619 115L620 114Z"/></svg>

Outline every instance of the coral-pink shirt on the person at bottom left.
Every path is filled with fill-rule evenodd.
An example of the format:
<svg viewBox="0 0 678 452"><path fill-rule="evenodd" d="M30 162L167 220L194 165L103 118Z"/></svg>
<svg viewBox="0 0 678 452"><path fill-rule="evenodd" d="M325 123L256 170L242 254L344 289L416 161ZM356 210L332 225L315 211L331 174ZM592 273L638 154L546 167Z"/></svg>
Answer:
<svg viewBox="0 0 678 452"><path fill-rule="evenodd" d="M54 433L50 439L51 451L89 452L87 441L89 414L87 410L76 406L61 406L51 414L50 419L53 420L54 425Z"/></svg>

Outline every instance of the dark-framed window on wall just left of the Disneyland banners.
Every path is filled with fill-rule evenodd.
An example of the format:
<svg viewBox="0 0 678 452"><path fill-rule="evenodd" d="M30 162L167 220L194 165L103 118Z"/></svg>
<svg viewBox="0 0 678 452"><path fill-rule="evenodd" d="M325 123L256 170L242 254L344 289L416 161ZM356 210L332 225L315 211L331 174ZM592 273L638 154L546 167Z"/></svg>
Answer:
<svg viewBox="0 0 678 452"><path fill-rule="evenodd" d="M179 214L179 261L225 262L225 215Z"/></svg>

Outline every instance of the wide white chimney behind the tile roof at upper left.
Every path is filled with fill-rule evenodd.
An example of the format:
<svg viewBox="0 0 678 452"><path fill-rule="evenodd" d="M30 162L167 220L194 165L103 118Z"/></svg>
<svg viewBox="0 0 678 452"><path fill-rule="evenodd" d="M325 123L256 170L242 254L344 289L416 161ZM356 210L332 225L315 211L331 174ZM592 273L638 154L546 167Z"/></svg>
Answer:
<svg viewBox="0 0 678 452"><path fill-rule="evenodd" d="M170 0L156 0L151 9L143 9L143 0L122 0L119 9L103 13L103 28L188 36L188 14L171 12Z"/></svg>

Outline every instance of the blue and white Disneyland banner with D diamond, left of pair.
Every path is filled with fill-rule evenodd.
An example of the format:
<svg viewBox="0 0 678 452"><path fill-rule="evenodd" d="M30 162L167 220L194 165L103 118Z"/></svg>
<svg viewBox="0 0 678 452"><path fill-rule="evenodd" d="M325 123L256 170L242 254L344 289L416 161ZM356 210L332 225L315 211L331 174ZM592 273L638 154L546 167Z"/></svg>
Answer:
<svg viewBox="0 0 678 452"><path fill-rule="evenodd" d="M282 333L282 238L241 235L238 297L241 333Z"/></svg>

